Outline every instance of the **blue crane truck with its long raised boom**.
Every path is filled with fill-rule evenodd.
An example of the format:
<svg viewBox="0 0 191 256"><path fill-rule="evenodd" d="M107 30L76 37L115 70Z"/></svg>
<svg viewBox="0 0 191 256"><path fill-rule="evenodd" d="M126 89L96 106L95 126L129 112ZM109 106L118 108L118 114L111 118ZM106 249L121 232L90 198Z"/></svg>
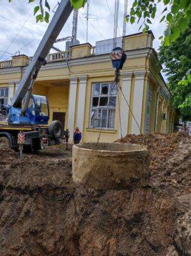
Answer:
<svg viewBox="0 0 191 256"><path fill-rule="evenodd" d="M0 124L0 143L6 143L11 148L31 147L38 150L44 145L59 143L68 131L64 131L61 122L49 122L49 104L47 98L33 95L33 84L42 65L46 64L46 57L56 41L61 29L72 13L70 0L62 0L52 17L52 20L38 45L27 70L20 81L19 87L11 99L11 104L1 106L0 114L6 122Z"/></svg>

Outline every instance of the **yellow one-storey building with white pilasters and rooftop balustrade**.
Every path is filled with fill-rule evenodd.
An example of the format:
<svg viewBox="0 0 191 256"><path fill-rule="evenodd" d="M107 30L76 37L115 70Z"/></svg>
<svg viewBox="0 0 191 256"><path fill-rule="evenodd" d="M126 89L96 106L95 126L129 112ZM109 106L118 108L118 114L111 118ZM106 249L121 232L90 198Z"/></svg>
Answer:
<svg viewBox="0 0 191 256"><path fill-rule="evenodd" d="M47 96L49 122L60 120L70 134L78 126L84 142L97 141L100 130L100 141L115 141L127 133L173 131L171 94L160 74L153 33L128 35L123 40L127 58L121 70L122 93L114 86L109 40L47 56L33 93ZM29 61L20 55L0 62L0 106L11 102Z"/></svg>

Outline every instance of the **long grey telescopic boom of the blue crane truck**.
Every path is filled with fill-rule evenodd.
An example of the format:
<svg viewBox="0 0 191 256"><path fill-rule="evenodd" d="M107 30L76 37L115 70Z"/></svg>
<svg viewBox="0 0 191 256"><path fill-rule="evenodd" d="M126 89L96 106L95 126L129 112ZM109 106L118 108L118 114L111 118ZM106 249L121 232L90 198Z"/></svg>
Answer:
<svg viewBox="0 0 191 256"><path fill-rule="evenodd" d="M17 108L20 106L22 99L24 99L31 83L36 76L42 65L45 63L45 58L49 53L52 45L56 41L57 36L61 32L63 26L65 26L70 13L72 13L73 7L71 6L70 0L62 0L59 4L56 13L54 14L42 41L38 45L36 52L27 67L27 70L20 81L20 85L15 92L15 95L11 99L11 106Z"/></svg>

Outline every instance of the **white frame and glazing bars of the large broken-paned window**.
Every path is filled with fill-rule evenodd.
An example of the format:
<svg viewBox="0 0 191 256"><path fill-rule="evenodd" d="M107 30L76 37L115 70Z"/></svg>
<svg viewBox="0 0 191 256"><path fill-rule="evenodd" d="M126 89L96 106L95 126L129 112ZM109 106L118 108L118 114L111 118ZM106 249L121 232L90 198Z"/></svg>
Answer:
<svg viewBox="0 0 191 256"><path fill-rule="evenodd" d="M98 83L100 84L100 91L99 91L99 94L98 95L94 95L93 92L94 92L94 85ZM102 94L102 85L103 84L108 84L108 94ZM115 127L116 127L116 109L117 109L117 97L118 97L118 91L116 90L116 94L111 94L111 84L113 84L114 86L114 82L113 81L108 81L108 82L95 82L95 83L91 83L91 108L90 108L90 115L89 115L89 128L90 129L102 129L102 130L108 130L108 131L114 131L115 130ZM93 97L98 97L98 106L97 107L93 107ZM101 97L107 97L108 98L108 102L107 102L107 106L100 106L100 98ZM116 97L116 106L109 106L109 100L110 100L110 97ZM91 125L91 118L92 118L92 112L93 110L97 110L97 111L101 111L101 116L100 118L96 118L97 120L101 120L100 121L100 124L102 124L102 121L103 121L103 110L107 110L107 117L106 117L106 127L92 127ZM114 118L114 127L110 128L110 127L107 127L109 126L109 112L110 111L115 111L115 118ZM99 113L97 114L98 116L100 115ZM105 119L105 118L104 118ZM101 125L100 125L101 126Z"/></svg>

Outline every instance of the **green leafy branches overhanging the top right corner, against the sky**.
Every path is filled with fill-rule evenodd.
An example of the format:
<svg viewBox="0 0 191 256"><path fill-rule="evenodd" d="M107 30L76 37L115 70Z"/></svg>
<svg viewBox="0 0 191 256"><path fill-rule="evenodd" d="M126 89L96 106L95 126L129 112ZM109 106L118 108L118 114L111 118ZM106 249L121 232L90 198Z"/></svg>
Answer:
<svg viewBox="0 0 191 256"><path fill-rule="evenodd" d="M145 33L155 19L157 12L157 4L162 0L135 0L130 10L131 24L137 20L141 22L139 29ZM167 29L164 36L160 36L160 40L164 39L164 45L170 45L179 36L181 31L185 31L191 18L191 1L190 0L163 0L164 10L161 13L160 22L166 22Z"/></svg>

